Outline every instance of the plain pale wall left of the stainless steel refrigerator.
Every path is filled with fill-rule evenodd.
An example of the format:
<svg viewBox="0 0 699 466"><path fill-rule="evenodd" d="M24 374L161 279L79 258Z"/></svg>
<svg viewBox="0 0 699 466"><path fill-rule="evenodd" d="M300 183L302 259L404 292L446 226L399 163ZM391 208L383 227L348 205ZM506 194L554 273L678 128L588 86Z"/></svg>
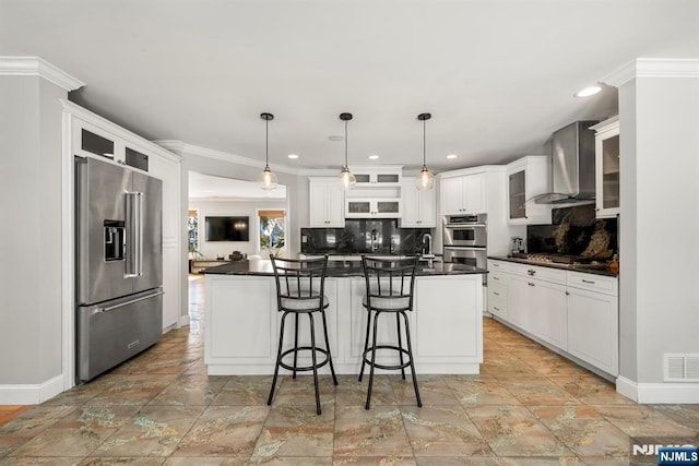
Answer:
<svg viewBox="0 0 699 466"><path fill-rule="evenodd" d="M0 76L0 384L40 385L62 370L67 259L61 256L58 98L66 94L38 76Z"/></svg>

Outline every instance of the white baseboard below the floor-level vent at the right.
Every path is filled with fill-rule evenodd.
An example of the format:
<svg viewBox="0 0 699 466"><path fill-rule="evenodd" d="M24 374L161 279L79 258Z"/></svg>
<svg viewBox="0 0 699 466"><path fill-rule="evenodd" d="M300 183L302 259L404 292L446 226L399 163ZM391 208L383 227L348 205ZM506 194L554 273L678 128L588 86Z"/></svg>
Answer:
<svg viewBox="0 0 699 466"><path fill-rule="evenodd" d="M640 404L699 403L699 383L638 383L619 375L616 391Z"/></svg>

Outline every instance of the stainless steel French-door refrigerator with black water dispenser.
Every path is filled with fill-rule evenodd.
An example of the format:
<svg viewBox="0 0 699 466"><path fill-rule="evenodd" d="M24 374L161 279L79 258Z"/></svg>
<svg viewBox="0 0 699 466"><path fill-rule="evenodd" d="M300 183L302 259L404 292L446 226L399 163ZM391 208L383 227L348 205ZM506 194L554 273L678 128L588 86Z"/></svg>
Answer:
<svg viewBox="0 0 699 466"><path fill-rule="evenodd" d="M76 382L163 334L162 181L75 157Z"/></svg>

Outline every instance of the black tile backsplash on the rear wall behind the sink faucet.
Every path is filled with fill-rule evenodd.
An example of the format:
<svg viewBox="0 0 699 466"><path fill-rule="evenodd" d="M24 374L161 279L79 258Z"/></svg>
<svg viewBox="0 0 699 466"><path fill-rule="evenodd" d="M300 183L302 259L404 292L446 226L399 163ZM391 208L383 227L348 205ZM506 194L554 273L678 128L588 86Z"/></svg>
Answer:
<svg viewBox="0 0 699 466"><path fill-rule="evenodd" d="M417 254L429 228L399 228L396 219L347 219L344 228L301 228L301 253Z"/></svg>

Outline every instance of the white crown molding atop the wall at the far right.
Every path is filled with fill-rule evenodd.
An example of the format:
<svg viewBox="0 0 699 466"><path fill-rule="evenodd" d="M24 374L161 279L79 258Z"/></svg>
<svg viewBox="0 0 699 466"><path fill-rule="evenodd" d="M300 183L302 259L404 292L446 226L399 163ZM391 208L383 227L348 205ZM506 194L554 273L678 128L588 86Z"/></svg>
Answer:
<svg viewBox="0 0 699 466"><path fill-rule="evenodd" d="M619 87L638 77L699 77L699 59L637 58L600 82Z"/></svg>

